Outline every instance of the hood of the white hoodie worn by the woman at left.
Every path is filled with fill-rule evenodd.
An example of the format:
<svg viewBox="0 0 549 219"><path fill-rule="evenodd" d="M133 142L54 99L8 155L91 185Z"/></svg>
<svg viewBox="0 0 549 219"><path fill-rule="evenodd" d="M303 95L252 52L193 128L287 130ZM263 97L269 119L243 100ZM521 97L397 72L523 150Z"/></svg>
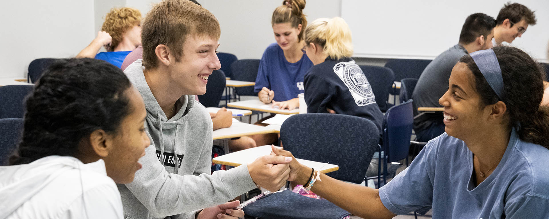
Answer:
<svg viewBox="0 0 549 219"><path fill-rule="evenodd" d="M75 169L107 175L103 160L83 164L71 156L47 156L30 164L0 166L0 218L9 216L54 179Z"/></svg>

